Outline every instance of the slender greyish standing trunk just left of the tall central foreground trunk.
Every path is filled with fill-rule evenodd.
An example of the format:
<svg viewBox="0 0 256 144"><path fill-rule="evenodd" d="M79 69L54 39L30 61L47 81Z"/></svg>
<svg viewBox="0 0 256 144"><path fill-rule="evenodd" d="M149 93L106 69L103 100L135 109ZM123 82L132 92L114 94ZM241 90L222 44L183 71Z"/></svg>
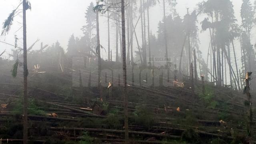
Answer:
<svg viewBox="0 0 256 144"><path fill-rule="evenodd" d="M98 2L97 2L98 5ZM100 91L100 98L102 99L102 86L101 86L101 58L100 58L100 28L99 28L99 12L96 12L96 29L97 29L97 54L98 54L98 87Z"/></svg>

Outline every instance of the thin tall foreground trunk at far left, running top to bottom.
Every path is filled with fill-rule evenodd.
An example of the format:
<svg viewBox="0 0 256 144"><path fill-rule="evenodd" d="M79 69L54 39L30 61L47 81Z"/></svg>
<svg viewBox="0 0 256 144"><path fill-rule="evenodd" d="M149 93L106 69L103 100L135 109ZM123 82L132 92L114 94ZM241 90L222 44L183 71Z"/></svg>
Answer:
<svg viewBox="0 0 256 144"><path fill-rule="evenodd" d="M28 65L27 65L27 34L26 34L26 0L23 0L23 76L24 76L24 107L23 107L23 144L28 143Z"/></svg>

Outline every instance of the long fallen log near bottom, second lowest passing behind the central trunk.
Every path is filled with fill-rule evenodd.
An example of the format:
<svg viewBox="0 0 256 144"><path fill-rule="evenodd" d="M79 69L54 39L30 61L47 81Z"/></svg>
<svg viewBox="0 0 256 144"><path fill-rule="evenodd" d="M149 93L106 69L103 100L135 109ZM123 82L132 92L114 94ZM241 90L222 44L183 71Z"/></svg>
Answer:
<svg viewBox="0 0 256 144"><path fill-rule="evenodd" d="M124 130L112 130L112 129L98 129L98 128L66 128L66 127L51 127L50 130L85 130L90 132L111 132L111 133L124 133ZM165 138L180 138L180 136L172 136L168 134L156 134L152 132L140 132L140 131L129 131L130 134L141 134L148 136L158 136Z"/></svg>

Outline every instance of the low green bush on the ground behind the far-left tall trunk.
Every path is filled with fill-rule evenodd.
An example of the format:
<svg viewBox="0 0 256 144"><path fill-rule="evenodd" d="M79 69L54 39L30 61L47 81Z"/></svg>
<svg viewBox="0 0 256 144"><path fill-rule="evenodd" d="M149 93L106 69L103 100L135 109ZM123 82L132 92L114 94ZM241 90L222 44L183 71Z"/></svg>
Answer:
<svg viewBox="0 0 256 144"><path fill-rule="evenodd" d="M28 104L29 104L28 114L38 115L38 116L46 115L46 113L43 110L40 110L38 106L36 106L36 101L34 99L29 99ZM12 112L14 114L22 114L22 110L23 110L23 101L19 99L14 103L14 109L12 110Z"/></svg>

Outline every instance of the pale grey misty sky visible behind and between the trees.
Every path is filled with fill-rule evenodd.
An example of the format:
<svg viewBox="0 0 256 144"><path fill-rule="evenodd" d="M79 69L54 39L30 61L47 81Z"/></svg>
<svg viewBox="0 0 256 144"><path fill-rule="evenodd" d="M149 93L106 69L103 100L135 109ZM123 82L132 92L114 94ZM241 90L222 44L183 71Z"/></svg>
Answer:
<svg viewBox="0 0 256 144"><path fill-rule="evenodd" d="M160 0L161 1L161 0ZM240 6L242 0L232 0L234 4L235 16L240 24ZM30 46L37 38L40 42L44 44L53 44L57 40L60 42L61 46L66 49L68 45L68 39L70 35L80 37L82 36L82 31L80 30L82 26L86 24L86 19L84 18L86 8L90 2L95 2L95 0L30 0L32 5L32 10L27 11L27 43ZM192 12L196 8L198 2L202 0L177 0L178 5L176 6L178 14L183 18L186 14L186 8L190 8ZM20 3L20 0L0 0L0 24L2 27L2 22L8 17L8 14L16 8ZM167 12L170 13L170 9L167 8ZM162 20L163 16L162 3L158 4L154 8L150 9L150 29L152 33L156 34L158 23ZM198 18L198 23L206 16L200 15ZM14 20L14 24L6 36L1 36L0 40L11 44L14 44L14 34L21 38L18 45L22 47L22 29L16 32L22 25L22 18L17 16ZM138 25L138 33L140 33L140 26ZM201 31L201 27L199 26ZM0 28L2 31L2 28ZM138 35L139 36L139 35ZM113 56L115 50L115 28L111 31L111 44L113 48ZM252 39L254 36L252 36ZM100 40L104 47L108 46L107 40L107 25L106 18L104 16L100 17ZM203 52L203 56L207 58L207 50L209 45L209 34L208 32L200 33L200 50ZM40 48L40 42L38 42L33 49ZM239 43L235 42L236 48L239 55ZM4 49L10 52L12 46L0 43L0 52ZM106 53L103 52L103 58L106 59ZM4 56L7 58L7 55ZM114 57L113 57L114 59Z"/></svg>

